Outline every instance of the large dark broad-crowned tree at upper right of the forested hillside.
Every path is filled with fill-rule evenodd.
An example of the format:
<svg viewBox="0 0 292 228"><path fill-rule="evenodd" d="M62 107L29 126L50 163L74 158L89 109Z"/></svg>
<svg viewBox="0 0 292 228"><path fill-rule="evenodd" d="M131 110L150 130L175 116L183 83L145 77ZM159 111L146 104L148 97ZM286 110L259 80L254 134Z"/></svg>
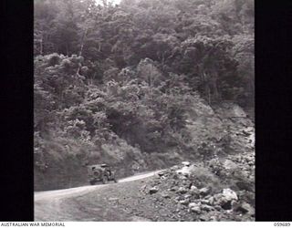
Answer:
<svg viewBox="0 0 292 228"><path fill-rule="evenodd" d="M228 88L240 86L239 78L236 78L237 62L230 57L229 49L232 42L228 38L209 38L206 36L196 36L182 43L183 73L190 79L198 78L199 89L208 102L219 101L222 98L233 98L233 91ZM191 81L192 84L192 81Z"/></svg>

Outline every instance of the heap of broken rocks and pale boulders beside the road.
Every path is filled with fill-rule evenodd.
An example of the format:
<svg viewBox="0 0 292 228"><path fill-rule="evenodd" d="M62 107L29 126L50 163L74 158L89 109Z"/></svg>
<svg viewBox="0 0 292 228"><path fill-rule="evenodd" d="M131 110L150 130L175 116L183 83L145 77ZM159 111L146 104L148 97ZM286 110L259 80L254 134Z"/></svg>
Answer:
<svg viewBox="0 0 292 228"><path fill-rule="evenodd" d="M183 162L148 181L141 193L169 209L157 221L255 221L254 162L250 155Z"/></svg>

